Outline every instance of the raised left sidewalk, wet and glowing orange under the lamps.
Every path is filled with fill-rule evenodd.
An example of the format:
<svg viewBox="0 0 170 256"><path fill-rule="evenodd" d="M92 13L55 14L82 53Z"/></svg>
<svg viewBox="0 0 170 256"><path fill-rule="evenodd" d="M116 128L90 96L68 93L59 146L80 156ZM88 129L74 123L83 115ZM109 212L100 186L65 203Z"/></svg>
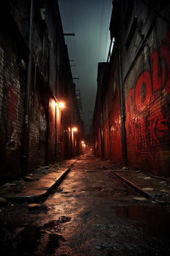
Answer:
<svg viewBox="0 0 170 256"><path fill-rule="evenodd" d="M38 202L46 199L60 185L77 159L55 162L35 169L25 177L0 186L0 197L8 202Z"/></svg>

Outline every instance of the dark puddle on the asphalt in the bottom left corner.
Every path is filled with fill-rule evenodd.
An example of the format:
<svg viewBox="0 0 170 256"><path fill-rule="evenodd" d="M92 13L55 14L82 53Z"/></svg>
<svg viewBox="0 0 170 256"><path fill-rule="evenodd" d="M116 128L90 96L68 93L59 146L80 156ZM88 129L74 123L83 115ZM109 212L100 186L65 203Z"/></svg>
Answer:
<svg viewBox="0 0 170 256"><path fill-rule="evenodd" d="M1 255L54 255L55 249L65 241L59 233L62 224L70 220L70 217L61 216L43 226L24 225L14 229L11 234L8 231L5 240L1 240Z"/></svg>

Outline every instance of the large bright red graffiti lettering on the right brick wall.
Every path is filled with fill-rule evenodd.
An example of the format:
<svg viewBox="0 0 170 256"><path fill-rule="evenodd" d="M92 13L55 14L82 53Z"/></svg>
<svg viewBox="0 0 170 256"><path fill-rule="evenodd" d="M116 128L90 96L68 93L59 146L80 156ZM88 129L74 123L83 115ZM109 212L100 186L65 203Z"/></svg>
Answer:
<svg viewBox="0 0 170 256"><path fill-rule="evenodd" d="M126 126L136 152L159 144L170 132L170 30L161 47L149 56L144 49L142 58L149 58L150 71L139 75L126 99Z"/></svg>

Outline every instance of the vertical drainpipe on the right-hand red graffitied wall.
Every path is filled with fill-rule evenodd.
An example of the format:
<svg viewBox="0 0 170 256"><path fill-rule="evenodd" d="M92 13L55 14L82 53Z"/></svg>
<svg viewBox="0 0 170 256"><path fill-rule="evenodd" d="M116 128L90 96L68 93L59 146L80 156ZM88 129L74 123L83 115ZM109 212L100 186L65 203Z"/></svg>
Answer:
<svg viewBox="0 0 170 256"><path fill-rule="evenodd" d="M119 26L117 26L118 36L118 65L119 65L119 83L120 83L120 103L121 103L121 137L122 137L122 155L124 166L127 164L126 160L126 129L125 129L125 103L124 103L124 88L122 79L122 67L121 67L121 48L120 48L120 34Z"/></svg>

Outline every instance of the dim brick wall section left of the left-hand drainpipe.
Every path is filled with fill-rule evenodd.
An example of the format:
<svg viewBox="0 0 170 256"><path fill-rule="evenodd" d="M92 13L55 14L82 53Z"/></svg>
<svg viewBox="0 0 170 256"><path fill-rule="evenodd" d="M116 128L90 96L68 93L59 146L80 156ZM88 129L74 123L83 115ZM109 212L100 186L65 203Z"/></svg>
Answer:
<svg viewBox="0 0 170 256"><path fill-rule="evenodd" d="M24 75L18 67L18 49L13 38L0 35L0 176L14 177L20 172ZM11 168L12 166L12 168Z"/></svg>

